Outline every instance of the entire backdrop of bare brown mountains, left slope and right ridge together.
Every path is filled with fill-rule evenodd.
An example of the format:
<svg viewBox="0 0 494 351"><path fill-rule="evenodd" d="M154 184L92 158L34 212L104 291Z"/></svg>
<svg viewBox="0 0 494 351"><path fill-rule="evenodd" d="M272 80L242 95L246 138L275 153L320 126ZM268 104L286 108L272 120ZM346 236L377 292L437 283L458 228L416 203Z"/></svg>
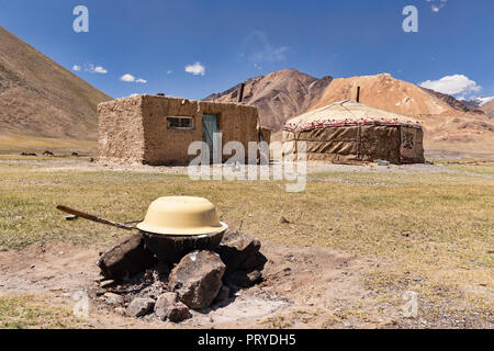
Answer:
<svg viewBox="0 0 494 351"><path fill-rule="evenodd" d="M284 69L245 84L244 102L258 107L261 124L276 132L274 139L281 138L287 120L356 99L360 87L362 103L422 121L429 150L494 155L490 98L459 101L389 73L333 79ZM236 102L239 86L205 100ZM97 105L111 99L0 27L0 141L5 135L96 140Z"/></svg>

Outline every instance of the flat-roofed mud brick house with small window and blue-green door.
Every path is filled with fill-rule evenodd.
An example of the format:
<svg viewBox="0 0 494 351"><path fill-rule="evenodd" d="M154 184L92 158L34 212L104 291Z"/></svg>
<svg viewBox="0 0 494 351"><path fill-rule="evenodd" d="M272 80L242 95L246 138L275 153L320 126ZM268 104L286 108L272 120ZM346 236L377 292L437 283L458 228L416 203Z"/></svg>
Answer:
<svg viewBox="0 0 494 351"><path fill-rule="evenodd" d="M222 149L231 140L240 141L247 158L248 143L266 135L257 109L237 103L135 95L100 103L98 114L103 162L187 165L198 156L188 155L190 144L201 140L212 159L218 149L213 148L213 134L220 132ZM231 157L225 155L222 161Z"/></svg>

